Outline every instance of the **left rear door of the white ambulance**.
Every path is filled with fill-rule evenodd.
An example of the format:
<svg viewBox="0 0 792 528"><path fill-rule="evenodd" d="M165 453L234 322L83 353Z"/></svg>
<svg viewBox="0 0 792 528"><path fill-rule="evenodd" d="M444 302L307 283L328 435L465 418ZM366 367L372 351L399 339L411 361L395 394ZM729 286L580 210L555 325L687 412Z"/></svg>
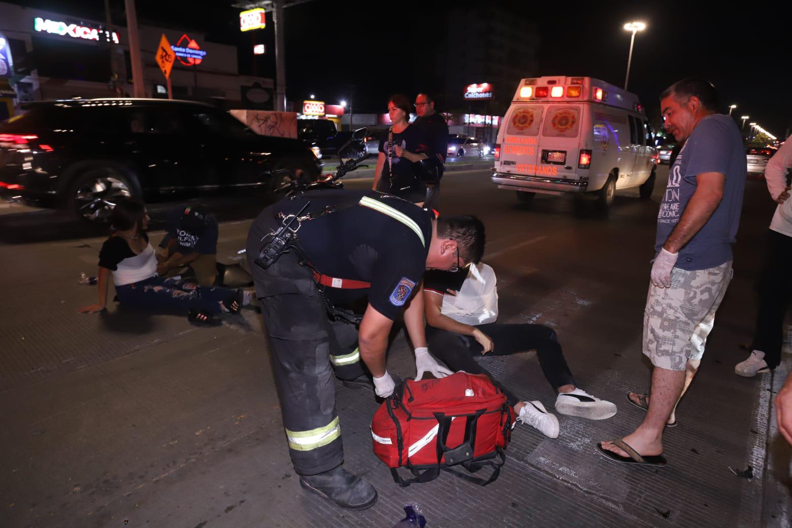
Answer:
<svg viewBox="0 0 792 528"><path fill-rule="evenodd" d="M500 172L535 176L539 159L539 130L546 104L515 103L501 125Z"/></svg>

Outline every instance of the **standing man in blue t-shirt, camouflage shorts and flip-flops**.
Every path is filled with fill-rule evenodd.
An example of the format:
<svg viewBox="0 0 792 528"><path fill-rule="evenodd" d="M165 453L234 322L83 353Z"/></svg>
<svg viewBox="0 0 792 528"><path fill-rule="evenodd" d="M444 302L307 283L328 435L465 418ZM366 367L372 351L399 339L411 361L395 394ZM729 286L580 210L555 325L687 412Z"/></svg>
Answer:
<svg viewBox="0 0 792 528"><path fill-rule="evenodd" d="M737 124L717 111L718 93L703 79L676 82L661 95L665 129L684 146L657 215L644 310L643 353L654 365L652 391L627 394L647 411L638 429L597 444L614 462L665 465L664 427L676 425L676 404L699 368L732 278L746 161Z"/></svg>

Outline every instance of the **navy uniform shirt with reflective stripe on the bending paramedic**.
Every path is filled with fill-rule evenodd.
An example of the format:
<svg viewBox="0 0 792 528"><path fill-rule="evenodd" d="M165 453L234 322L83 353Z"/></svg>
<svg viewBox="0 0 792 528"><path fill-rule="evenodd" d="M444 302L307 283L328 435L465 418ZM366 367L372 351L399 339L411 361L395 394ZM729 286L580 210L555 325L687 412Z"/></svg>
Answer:
<svg viewBox="0 0 792 528"><path fill-rule="evenodd" d="M307 199L309 211L337 207L299 226L297 245L310 264L324 275L371 283L365 289L326 287L327 297L336 306L367 299L383 316L395 319L424 275L433 213L375 191L310 192L275 208L293 213ZM257 230L261 221L260 215L251 230Z"/></svg>

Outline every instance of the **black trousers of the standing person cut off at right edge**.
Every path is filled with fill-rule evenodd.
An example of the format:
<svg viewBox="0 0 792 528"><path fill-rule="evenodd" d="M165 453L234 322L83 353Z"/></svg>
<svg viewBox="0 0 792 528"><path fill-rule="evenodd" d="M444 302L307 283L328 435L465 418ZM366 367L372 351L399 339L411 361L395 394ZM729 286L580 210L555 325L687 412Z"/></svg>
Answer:
<svg viewBox="0 0 792 528"><path fill-rule="evenodd" d="M784 340L784 317L792 298L792 237L768 230L764 265L756 291L759 310L753 333L753 348L764 352L767 367L774 369L781 363Z"/></svg>

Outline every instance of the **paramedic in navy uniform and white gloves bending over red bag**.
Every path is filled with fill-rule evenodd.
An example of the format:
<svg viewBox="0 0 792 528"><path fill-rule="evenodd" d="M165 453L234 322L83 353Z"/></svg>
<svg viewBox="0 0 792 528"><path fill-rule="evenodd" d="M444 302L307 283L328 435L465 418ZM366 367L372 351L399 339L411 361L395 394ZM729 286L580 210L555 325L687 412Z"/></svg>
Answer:
<svg viewBox="0 0 792 528"><path fill-rule="evenodd" d="M296 233L287 252L268 268L255 264L262 245L292 219L298 221L291 223ZM374 376L377 395L389 396L394 381L385 370L388 334L404 308L419 376L451 374L426 348L421 278L426 268L447 270L476 262L483 251L484 226L478 218L436 219L431 211L379 192L304 193L256 218L247 256L267 329L289 454L303 488L356 510L376 502L375 488L341 467L344 450L333 367L339 378L356 378L364 374L362 359ZM352 321L345 323L351 317L337 306L360 298L367 302L358 348L339 355L339 336Z"/></svg>

